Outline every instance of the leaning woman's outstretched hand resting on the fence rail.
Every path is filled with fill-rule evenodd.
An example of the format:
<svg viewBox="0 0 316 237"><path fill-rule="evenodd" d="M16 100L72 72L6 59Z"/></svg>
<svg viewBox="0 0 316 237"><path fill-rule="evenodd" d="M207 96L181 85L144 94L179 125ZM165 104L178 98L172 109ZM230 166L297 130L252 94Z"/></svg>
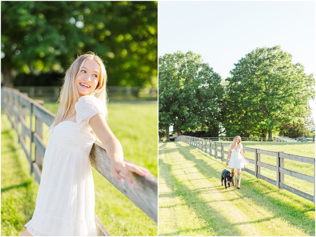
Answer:
<svg viewBox="0 0 316 237"><path fill-rule="evenodd" d="M117 178L122 183L125 183L125 179L119 174L122 172L128 181L128 183L131 185L132 188L134 188L133 181L131 180L131 176L129 172L137 173L140 176L146 176L149 174L149 170L140 167L138 165L127 163L127 162L117 162L114 159L111 160L111 173L112 175Z"/></svg>

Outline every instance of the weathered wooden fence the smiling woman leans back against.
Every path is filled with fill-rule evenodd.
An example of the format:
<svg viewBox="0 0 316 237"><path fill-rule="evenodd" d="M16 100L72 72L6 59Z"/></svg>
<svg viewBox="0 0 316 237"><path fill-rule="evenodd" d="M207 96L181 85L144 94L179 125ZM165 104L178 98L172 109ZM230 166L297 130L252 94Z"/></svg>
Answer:
<svg viewBox="0 0 316 237"><path fill-rule="evenodd" d="M55 115L18 90L6 87L1 88L1 108L4 114L8 116L12 127L18 134L18 142L21 144L31 166L30 172L34 173L35 179L40 183L43 157L46 150L46 146L43 142L42 125L44 122L49 127ZM29 118L28 125L27 117ZM34 117L35 127L33 121ZM26 139L30 140L28 147L26 146ZM32 149L34 145L35 149ZM125 161L130 162L126 159ZM146 177L141 177L135 173L131 173L134 188L130 188L128 182L122 184L112 176L110 171L110 158L107 156L102 144L97 141L91 149L90 162L103 177L157 223L158 182L154 175L149 174ZM98 235L110 235L98 216L94 214L94 217Z"/></svg>

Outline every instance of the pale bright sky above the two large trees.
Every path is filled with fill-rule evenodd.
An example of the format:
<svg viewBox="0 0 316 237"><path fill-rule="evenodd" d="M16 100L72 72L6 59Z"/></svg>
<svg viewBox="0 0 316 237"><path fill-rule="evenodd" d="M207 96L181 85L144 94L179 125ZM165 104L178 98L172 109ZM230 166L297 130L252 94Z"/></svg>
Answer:
<svg viewBox="0 0 316 237"><path fill-rule="evenodd" d="M315 2L158 2L159 56L191 50L227 78L241 57L275 45L316 74Z"/></svg>

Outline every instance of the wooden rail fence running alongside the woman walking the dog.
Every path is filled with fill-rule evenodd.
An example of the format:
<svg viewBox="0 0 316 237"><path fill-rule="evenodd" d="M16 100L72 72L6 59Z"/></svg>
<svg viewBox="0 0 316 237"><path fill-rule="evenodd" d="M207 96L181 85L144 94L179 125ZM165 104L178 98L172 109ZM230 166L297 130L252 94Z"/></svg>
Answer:
<svg viewBox="0 0 316 237"><path fill-rule="evenodd" d="M199 137L191 137L191 136L179 136L176 141L183 141L187 144L190 144L193 147L196 147L200 149L201 151L209 154L210 156L213 156L216 159L220 159L222 161L226 161L225 154L228 155L227 151L224 151L224 147L228 147L229 143L224 143L224 142L216 142L212 140L206 140L203 138ZM214 146L214 147L213 147ZM310 158L310 157L304 157L304 156L297 156L297 155L292 155L292 154L287 154L283 152L273 152L273 151L265 151L261 149L256 149L256 148L250 148L250 147L243 147L244 151L249 151L253 152L254 159L249 159L249 163L254 164L255 166L255 171L252 171L247 168L243 168L243 171L246 171L252 175L254 175L256 178L263 179L264 181L273 184L277 186L278 188L282 188L285 190L288 190L298 196L301 196L315 204L315 159ZM274 156L276 158L276 165L270 165L266 164L264 162L260 161L260 155L269 155L269 156ZM284 159L289 159L289 160L295 160L307 164L312 164L314 167L314 177L302 174L299 172L295 172L289 169L284 168ZM264 167L270 170L273 170L276 172L276 180L265 177L261 174L260 168ZM298 178L307 182L310 182L314 184L314 195L310 195L308 193L305 193L301 190L298 190L296 188L293 188L289 185L284 184L284 174L292 176L294 178Z"/></svg>

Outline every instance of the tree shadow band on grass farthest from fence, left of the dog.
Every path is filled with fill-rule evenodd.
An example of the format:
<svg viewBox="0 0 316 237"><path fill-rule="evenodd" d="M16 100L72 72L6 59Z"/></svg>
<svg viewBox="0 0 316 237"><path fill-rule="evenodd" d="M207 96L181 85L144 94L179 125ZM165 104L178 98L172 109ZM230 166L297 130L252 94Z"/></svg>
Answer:
<svg viewBox="0 0 316 237"><path fill-rule="evenodd" d="M216 233L215 235L225 235L225 233L227 233L226 227L231 225L231 223L226 220L224 216L218 218L221 214L211 208L207 202L198 197L201 191L189 190L185 185L181 184L181 182L179 182L172 174L171 165L164 163L162 159L159 159L159 165L161 167L161 172L163 172L161 175L163 177L168 177L164 179L166 185L173 191L174 196L181 197L185 201L186 206L193 209L195 213L207 223L207 225L200 230L210 229L210 232ZM188 231L190 230L188 229ZM163 235L177 235L181 232L182 230L178 230L177 232ZM235 229L234 234L241 235L242 233L240 230Z"/></svg>

